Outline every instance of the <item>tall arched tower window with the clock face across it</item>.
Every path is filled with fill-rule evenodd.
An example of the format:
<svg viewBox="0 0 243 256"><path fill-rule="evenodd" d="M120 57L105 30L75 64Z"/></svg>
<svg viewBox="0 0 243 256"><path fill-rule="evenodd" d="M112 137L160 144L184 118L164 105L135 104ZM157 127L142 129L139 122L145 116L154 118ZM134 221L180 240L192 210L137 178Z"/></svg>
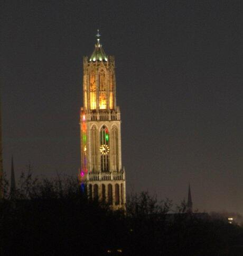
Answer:
<svg viewBox="0 0 243 256"><path fill-rule="evenodd" d="M109 171L109 131L106 126L102 126L100 130L100 165L102 172Z"/></svg>

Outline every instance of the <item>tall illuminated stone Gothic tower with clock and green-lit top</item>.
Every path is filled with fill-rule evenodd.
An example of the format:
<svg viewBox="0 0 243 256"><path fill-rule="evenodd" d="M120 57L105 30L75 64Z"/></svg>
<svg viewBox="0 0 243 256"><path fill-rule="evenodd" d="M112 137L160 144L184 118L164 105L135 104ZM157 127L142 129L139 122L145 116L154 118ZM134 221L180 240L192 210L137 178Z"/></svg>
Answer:
<svg viewBox="0 0 243 256"><path fill-rule="evenodd" d="M111 208L126 204L125 171L121 165L120 109L116 105L114 56L97 43L83 59L83 103L80 112L81 188L89 198L107 202ZM86 186L87 185L87 186Z"/></svg>

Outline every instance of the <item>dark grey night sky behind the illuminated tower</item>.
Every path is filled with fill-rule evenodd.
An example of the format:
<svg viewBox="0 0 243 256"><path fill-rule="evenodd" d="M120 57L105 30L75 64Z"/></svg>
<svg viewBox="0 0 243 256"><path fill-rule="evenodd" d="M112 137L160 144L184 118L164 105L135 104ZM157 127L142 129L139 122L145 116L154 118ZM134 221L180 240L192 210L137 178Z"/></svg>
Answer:
<svg viewBox="0 0 243 256"><path fill-rule="evenodd" d="M82 58L116 60L127 192L243 214L241 1L2 1L4 169L75 174Z"/></svg>

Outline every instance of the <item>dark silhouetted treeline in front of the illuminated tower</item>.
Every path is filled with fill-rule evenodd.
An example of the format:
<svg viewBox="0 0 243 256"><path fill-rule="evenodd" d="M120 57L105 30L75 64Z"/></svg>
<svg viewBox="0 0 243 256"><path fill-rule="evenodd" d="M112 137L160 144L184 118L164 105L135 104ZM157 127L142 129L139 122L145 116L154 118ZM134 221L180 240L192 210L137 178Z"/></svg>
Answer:
<svg viewBox="0 0 243 256"><path fill-rule="evenodd" d="M22 174L0 202L0 255L243 255L243 229L187 214L147 192L126 213L89 200L76 179Z"/></svg>

